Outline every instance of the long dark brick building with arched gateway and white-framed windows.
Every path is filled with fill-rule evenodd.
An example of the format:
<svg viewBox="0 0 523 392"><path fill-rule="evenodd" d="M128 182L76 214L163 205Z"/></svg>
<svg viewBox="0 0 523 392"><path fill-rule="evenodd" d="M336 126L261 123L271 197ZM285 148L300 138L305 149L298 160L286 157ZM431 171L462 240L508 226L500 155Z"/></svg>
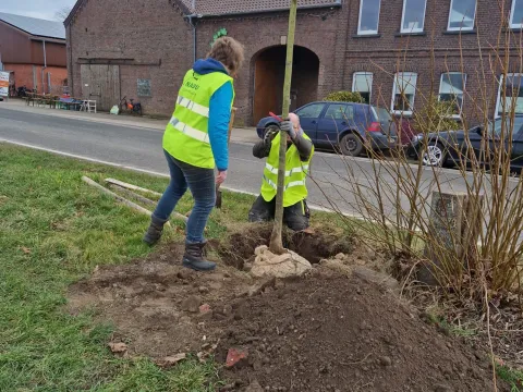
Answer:
<svg viewBox="0 0 523 392"><path fill-rule="evenodd" d="M185 71L224 28L245 45L234 106L238 122L253 124L281 110L288 4L78 0L65 21L72 93L105 109L138 98L146 112L169 115ZM474 118L498 113L507 86L523 112L522 21L523 0L301 0L292 108L353 89L410 114L431 91Z"/></svg>

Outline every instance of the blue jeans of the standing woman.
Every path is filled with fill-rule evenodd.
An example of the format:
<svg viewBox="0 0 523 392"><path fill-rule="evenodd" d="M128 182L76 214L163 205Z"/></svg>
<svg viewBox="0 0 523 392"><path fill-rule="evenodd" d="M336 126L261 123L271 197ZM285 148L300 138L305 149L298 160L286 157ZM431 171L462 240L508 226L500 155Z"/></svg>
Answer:
<svg viewBox="0 0 523 392"><path fill-rule="evenodd" d="M169 152L163 152L169 164L171 182L161 196L153 218L169 219L188 187L194 197L194 208L188 217L185 241L190 244L204 243L204 230L216 204L215 170L181 162Z"/></svg>

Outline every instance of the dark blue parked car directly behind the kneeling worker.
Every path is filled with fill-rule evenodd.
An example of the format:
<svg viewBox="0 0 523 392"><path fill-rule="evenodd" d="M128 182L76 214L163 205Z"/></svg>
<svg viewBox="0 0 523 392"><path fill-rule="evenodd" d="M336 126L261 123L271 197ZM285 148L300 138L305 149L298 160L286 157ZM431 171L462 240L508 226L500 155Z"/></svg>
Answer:
<svg viewBox="0 0 523 392"><path fill-rule="evenodd" d="M388 149L397 144L396 124L385 108L365 103L312 102L294 111L303 131L319 148L339 148L343 155L356 157L365 140L374 149ZM271 118L262 119L256 126L260 138L267 130L277 127Z"/></svg>

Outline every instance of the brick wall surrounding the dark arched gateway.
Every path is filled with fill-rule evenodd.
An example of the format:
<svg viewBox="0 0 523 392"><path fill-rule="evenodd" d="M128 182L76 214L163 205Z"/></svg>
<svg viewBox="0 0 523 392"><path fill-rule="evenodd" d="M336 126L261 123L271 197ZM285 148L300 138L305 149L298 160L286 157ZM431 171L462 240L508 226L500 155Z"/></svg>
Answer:
<svg viewBox="0 0 523 392"><path fill-rule="evenodd" d="M321 19L325 16L325 20ZM245 46L245 63L236 81L239 122L252 124L254 100L254 70L257 56L265 49L281 45L281 37L288 35L288 13L248 15L245 17L222 17L203 20L197 26L198 57L204 57L210 48L212 35L226 27L228 35ZM336 65L341 63L344 50L344 14L339 11L311 10L299 11L295 32L295 45L313 51L319 58L319 77L317 97L325 96L341 87ZM281 86L282 87L282 86Z"/></svg>

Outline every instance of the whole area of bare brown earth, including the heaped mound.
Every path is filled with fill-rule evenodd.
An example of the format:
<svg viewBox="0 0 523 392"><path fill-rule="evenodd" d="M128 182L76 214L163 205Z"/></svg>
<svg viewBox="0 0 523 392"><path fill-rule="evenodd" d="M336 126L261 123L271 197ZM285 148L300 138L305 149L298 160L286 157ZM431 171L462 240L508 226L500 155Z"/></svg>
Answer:
<svg viewBox="0 0 523 392"><path fill-rule="evenodd" d="M229 382L222 391L494 390L485 353L439 333L392 294L393 284L354 266L368 250L287 281L253 280L226 266L243 268L238 260L256 245L238 236L228 252L235 246L241 257L215 273L182 269L177 244L97 269L71 286L70 309L97 308L131 355L161 363L214 354ZM317 252L318 260L340 250L336 242L320 246L329 250Z"/></svg>

